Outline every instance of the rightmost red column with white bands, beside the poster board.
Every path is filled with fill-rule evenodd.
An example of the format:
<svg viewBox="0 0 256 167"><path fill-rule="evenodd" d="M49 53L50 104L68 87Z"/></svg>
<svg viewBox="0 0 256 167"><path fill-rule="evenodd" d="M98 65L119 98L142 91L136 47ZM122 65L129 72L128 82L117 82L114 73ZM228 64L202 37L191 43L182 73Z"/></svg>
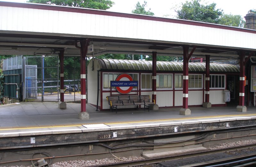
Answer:
<svg viewBox="0 0 256 167"><path fill-rule="evenodd" d="M239 81L239 106L236 107L236 111L246 112L246 106L244 106L244 81L245 81L245 51L240 53L240 81Z"/></svg>

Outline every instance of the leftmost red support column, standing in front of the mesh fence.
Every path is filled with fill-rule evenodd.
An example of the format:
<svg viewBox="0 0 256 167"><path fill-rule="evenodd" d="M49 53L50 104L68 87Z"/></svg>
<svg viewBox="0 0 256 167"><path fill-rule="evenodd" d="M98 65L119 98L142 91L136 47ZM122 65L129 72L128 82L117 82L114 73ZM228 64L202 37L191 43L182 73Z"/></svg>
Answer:
<svg viewBox="0 0 256 167"><path fill-rule="evenodd" d="M64 102L64 50L60 50L60 102L59 108L66 109L67 104Z"/></svg>

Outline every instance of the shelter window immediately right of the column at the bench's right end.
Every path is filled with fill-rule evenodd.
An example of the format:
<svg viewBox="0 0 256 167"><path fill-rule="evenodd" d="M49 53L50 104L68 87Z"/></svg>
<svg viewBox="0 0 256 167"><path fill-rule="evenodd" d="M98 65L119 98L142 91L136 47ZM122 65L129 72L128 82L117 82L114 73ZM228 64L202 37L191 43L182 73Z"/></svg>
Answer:
<svg viewBox="0 0 256 167"><path fill-rule="evenodd" d="M170 88L172 88L172 74L156 75L156 88L157 89L170 89Z"/></svg>

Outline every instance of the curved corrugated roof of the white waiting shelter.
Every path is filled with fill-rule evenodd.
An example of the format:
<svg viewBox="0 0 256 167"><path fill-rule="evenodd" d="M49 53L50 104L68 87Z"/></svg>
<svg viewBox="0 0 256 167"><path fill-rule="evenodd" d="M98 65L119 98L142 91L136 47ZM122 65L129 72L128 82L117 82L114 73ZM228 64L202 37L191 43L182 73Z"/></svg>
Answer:
<svg viewBox="0 0 256 167"><path fill-rule="evenodd" d="M98 59L101 70L152 71L152 61ZM157 71L183 71L182 62L156 62ZM205 72L205 63L188 63L189 72ZM210 72L239 72L239 68L231 64L210 63Z"/></svg>

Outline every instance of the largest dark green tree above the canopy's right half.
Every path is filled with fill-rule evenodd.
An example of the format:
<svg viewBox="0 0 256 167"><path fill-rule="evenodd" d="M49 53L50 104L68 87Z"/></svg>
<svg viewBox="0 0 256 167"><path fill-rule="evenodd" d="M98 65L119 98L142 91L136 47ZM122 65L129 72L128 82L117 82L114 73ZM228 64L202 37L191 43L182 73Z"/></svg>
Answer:
<svg viewBox="0 0 256 167"><path fill-rule="evenodd" d="M200 2L201 0L191 0L182 3L181 9L176 11L177 18L218 24L222 10L215 9L215 3L204 5Z"/></svg>

